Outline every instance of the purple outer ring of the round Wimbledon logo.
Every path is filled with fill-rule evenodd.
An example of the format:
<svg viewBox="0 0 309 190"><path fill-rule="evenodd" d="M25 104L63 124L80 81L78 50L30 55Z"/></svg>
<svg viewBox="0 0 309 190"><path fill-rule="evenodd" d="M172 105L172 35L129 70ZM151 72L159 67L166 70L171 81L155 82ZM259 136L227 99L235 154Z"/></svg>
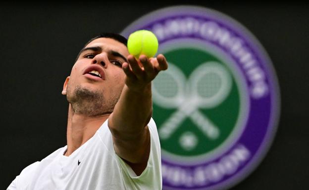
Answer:
<svg viewBox="0 0 309 190"><path fill-rule="evenodd" d="M229 34L233 34L235 38L241 39L243 42L242 47L248 49L252 57L254 57L253 59L256 61L257 66L255 70L253 68L250 68L250 71L249 69L245 69L243 63L231 53L231 50L224 48L218 41L208 40L207 42L211 42L213 45L220 47L227 55L230 55L230 57L238 64L235 67L238 67L244 73L244 76L249 72L261 72L264 75L263 82L265 85L267 84L268 87L267 93L263 96L259 98L255 96L249 97L250 110L247 122L245 123L245 129L227 152L224 152L215 159L206 160L202 164L197 163L189 166L181 165L180 163L173 162L173 160L162 159L164 190L227 189L246 178L257 167L269 150L269 146L271 145L277 130L277 123L280 114L279 85L271 60L257 38L234 19L212 9L185 5L158 9L134 21L122 31L122 35L128 37L132 32L141 29L152 31L157 24L164 25L164 23L169 20L184 19L188 17L201 22L213 22L219 27L226 29ZM175 34L171 37L166 37L161 40L159 39L159 43L163 44L175 38L198 38L201 40L207 40L197 34ZM253 86L256 81L250 79L250 77L253 76L249 76L249 74L247 75L248 76L245 77L246 84L247 88L250 89L251 85ZM245 159L245 157L247 159ZM235 168L237 163L236 160L242 160L242 162L238 162L237 168ZM234 163L234 165L232 163ZM171 170L168 168L173 168L173 171L175 172L170 174L164 173L165 171ZM224 174L222 168L228 168L229 170L227 171L230 173ZM207 172L211 173L211 175L207 175ZM216 172L218 174L216 174ZM176 177L173 175L178 175L178 179L176 180Z"/></svg>

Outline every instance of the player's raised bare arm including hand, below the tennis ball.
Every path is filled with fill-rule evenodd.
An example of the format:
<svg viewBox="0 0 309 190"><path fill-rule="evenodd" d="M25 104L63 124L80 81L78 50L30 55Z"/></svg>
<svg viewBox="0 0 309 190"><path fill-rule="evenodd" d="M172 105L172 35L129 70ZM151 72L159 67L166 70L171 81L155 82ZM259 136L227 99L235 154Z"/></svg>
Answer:
<svg viewBox="0 0 309 190"><path fill-rule="evenodd" d="M141 64L129 55L128 62L122 65L126 81L108 126L115 152L139 175L147 166L150 153L147 124L152 116L151 81L167 69L167 62L162 54L150 59L141 55Z"/></svg>

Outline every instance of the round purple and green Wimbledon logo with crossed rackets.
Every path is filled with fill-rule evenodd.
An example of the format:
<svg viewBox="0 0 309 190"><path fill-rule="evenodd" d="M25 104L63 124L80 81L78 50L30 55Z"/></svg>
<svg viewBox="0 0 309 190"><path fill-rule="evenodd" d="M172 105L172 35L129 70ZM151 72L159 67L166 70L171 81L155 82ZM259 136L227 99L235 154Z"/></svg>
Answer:
<svg viewBox="0 0 309 190"><path fill-rule="evenodd" d="M156 10L122 31L150 30L169 63L153 81L163 190L222 190L260 163L274 137L279 90L257 39L198 6Z"/></svg>

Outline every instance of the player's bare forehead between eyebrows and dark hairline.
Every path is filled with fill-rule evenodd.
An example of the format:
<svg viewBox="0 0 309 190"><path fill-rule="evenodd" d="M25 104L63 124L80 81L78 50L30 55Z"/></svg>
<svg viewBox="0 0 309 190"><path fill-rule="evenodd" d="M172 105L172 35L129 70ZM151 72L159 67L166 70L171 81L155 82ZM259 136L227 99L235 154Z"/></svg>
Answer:
<svg viewBox="0 0 309 190"><path fill-rule="evenodd" d="M113 50L125 56L129 54L127 46L112 38L97 38L87 44L85 47L100 46L104 51Z"/></svg>

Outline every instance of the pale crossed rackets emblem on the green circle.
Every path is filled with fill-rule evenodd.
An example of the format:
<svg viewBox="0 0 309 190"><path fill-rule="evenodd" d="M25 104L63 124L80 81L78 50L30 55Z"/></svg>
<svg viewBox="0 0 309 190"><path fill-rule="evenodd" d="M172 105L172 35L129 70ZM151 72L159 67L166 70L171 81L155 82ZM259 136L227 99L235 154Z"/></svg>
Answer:
<svg viewBox="0 0 309 190"><path fill-rule="evenodd" d="M220 135L219 128L199 109L220 105L228 96L232 80L227 69L217 62L198 66L188 77L174 64L153 81L154 103L162 108L177 109L158 130L161 139L168 139L189 117L211 140Z"/></svg>

